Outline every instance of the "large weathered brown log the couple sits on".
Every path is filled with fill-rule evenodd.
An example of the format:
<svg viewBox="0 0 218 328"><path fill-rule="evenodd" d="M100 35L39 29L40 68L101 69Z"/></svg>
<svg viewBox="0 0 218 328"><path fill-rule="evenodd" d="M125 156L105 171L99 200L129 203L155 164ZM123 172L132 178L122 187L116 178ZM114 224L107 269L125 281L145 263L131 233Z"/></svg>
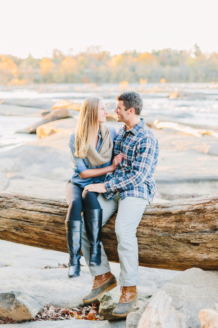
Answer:
<svg viewBox="0 0 218 328"><path fill-rule="evenodd" d="M64 200L0 192L0 239L66 252ZM119 262L116 214L102 229L108 259ZM218 194L147 206L137 230L142 266L218 270Z"/></svg>

